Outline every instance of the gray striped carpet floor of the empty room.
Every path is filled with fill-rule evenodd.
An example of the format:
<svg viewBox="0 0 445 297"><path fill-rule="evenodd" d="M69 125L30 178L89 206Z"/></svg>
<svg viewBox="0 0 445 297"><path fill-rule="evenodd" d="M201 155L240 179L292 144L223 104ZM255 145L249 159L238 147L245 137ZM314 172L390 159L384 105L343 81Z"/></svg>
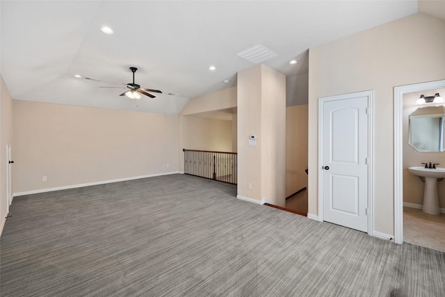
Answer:
<svg viewBox="0 0 445 297"><path fill-rule="evenodd" d="M445 296L445 253L167 175L19 196L1 296Z"/></svg>

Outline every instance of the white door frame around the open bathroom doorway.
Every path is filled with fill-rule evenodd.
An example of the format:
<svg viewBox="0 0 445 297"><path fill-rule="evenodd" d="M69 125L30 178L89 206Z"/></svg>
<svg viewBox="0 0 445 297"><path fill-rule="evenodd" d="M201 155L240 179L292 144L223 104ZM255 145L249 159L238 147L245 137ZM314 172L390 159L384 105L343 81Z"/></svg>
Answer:
<svg viewBox="0 0 445 297"><path fill-rule="evenodd" d="M438 88L445 88L445 80L394 88L394 241L396 243L403 243L403 95Z"/></svg>

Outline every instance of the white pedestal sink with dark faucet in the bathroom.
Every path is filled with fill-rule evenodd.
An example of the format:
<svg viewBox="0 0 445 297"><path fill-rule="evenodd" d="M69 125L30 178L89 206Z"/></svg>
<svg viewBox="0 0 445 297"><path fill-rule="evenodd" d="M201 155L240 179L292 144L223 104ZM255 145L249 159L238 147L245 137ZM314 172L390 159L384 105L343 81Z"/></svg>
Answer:
<svg viewBox="0 0 445 297"><path fill-rule="evenodd" d="M408 168L408 170L410 170L413 175L425 177L423 212L426 214L440 214L437 179L445 178L445 168L423 168L421 166L414 166Z"/></svg>

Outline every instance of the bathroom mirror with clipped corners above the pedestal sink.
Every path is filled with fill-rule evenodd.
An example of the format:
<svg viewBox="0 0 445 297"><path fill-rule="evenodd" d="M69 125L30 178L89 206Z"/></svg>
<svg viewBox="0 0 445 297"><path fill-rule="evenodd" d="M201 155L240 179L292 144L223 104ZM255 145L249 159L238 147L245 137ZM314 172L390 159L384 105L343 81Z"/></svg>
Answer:
<svg viewBox="0 0 445 297"><path fill-rule="evenodd" d="M410 114L409 143L419 152L444 152L444 106L426 106Z"/></svg>

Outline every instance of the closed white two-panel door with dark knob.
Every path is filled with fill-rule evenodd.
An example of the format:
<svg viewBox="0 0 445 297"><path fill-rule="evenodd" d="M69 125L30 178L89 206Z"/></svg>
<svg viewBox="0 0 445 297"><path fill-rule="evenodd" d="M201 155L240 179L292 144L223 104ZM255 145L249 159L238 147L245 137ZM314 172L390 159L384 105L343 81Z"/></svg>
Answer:
<svg viewBox="0 0 445 297"><path fill-rule="evenodd" d="M369 107L363 93L321 99L323 220L369 232Z"/></svg>

